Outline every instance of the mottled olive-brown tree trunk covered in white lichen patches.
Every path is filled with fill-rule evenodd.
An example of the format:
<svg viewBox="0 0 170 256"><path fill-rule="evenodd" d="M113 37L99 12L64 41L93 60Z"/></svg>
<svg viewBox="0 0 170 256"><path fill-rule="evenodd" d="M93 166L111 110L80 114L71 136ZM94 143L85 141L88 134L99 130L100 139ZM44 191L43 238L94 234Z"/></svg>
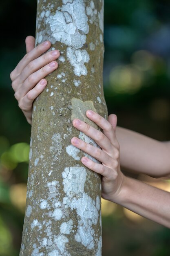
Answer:
<svg viewBox="0 0 170 256"><path fill-rule="evenodd" d="M26 212L20 256L101 256L101 177L71 145L72 126L93 109L107 117L103 94L103 1L38 0L36 44L59 49L59 67L33 104ZM95 160L95 159L93 159ZM95 160L96 161L96 160Z"/></svg>

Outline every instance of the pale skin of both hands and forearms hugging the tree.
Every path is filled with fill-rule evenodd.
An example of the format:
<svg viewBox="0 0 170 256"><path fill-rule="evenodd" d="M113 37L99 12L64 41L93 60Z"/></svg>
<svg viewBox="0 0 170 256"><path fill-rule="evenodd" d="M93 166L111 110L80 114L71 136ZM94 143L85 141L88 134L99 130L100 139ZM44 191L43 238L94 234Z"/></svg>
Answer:
<svg viewBox="0 0 170 256"><path fill-rule="evenodd" d="M35 38L28 36L27 53L10 75L15 98L29 124L33 101L47 85L44 77L57 69L56 59L60 56L58 50L45 53L51 46L49 41L46 45L34 45ZM109 115L108 121L91 110L86 116L102 128L103 133L79 119L73 120L73 126L94 139L101 149L76 137L71 139L71 144L101 162L97 164L88 157L81 159L82 164L102 175L102 197L170 228L170 193L121 172L122 168L151 177L170 177L170 141L157 141L118 127L114 114Z"/></svg>

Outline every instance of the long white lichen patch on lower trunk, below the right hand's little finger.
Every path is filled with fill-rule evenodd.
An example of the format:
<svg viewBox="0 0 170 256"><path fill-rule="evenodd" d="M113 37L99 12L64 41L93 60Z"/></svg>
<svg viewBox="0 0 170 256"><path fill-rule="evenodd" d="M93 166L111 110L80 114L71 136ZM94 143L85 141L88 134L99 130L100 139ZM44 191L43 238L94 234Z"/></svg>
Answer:
<svg viewBox="0 0 170 256"><path fill-rule="evenodd" d="M92 225L97 225L99 213L92 198L84 192L86 168L80 166L66 167L62 173L64 192L63 204L75 209L77 213L77 232L75 240L88 249L94 248L95 231Z"/></svg>

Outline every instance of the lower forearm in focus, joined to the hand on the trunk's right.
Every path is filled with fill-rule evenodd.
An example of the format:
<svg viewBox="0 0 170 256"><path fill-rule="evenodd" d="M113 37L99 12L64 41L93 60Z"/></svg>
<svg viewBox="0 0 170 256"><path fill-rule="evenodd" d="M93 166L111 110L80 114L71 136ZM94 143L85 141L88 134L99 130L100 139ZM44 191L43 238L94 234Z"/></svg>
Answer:
<svg viewBox="0 0 170 256"><path fill-rule="evenodd" d="M170 193L166 191L125 177L120 193L111 201L170 228Z"/></svg>

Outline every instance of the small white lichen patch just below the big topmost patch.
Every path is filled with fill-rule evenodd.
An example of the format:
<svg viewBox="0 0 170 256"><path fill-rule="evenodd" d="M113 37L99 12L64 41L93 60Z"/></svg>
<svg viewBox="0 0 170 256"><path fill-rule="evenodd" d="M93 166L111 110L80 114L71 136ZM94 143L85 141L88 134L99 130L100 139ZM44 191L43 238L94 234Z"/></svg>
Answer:
<svg viewBox="0 0 170 256"><path fill-rule="evenodd" d="M88 52L83 49L75 49L74 47L67 47L66 52L68 61L74 67L74 74L76 76L87 75L87 68L84 63L88 63L90 57Z"/></svg>

